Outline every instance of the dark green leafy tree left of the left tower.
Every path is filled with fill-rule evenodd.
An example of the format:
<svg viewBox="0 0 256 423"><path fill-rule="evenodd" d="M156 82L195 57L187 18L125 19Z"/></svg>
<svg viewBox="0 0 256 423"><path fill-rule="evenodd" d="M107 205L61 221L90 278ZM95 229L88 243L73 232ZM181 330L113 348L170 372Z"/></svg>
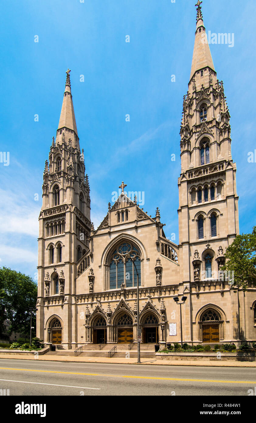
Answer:
<svg viewBox="0 0 256 423"><path fill-rule="evenodd" d="M37 284L31 276L0 268L0 324L3 325L3 319L9 319L10 333L22 332L30 337L30 308L35 310L36 299ZM32 326L35 327L35 313L32 313Z"/></svg>

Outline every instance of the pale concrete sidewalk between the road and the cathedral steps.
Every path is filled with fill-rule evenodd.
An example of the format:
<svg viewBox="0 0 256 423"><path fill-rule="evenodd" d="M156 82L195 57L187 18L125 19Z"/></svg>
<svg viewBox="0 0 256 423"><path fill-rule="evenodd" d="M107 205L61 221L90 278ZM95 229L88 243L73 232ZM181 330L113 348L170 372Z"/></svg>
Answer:
<svg viewBox="0 0 256 423"><path fill-rule="evenodd" d="M12 360L38 360L38 361L60 361L70 363L113 363L113 364L137 364L136 358L108 358L108 357L66 357L38 355L37 358L31 355L21 354L0 354L0 359ZM142 358L141 364L162 365L162 366L199 366L199 367L254 367L256 362L249 361L198 361L198 360L155 360L154 358Z"/></svg>

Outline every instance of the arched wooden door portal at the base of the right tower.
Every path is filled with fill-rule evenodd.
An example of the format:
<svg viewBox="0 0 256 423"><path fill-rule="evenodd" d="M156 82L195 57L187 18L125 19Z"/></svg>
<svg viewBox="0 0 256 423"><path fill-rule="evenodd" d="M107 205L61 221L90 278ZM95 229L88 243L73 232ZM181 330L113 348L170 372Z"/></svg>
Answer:
<svg viewBox="0 0 256 423"><path fill-rule="evenodd" d="M201 317L202 341L215 343L220 341L220 317L215 310L209 309Z"/></svg>

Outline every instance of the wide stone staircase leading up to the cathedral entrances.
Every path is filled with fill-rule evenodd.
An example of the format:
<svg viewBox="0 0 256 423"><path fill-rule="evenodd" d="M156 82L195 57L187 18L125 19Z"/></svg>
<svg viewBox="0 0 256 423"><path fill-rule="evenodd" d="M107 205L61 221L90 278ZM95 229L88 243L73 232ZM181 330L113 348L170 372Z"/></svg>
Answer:
<svg viewBox="0 0 256 423"><path fill-rule="evenodd" d="M109 351L117 347L117 352L114 357L123 358L136 358L137 357L137 343L133 344L131 350L128 349L128 344L125 343L111 343L106 344L103 349L99 350L99 344L86 344L83 345L83 352L79 354L79 357L109 357ZM46 355L55 356L75 356L74 349L58 349L58 351L49 351ZM155 344L143 344L140 345L140 356L142 358L155 358Z"/></svg>

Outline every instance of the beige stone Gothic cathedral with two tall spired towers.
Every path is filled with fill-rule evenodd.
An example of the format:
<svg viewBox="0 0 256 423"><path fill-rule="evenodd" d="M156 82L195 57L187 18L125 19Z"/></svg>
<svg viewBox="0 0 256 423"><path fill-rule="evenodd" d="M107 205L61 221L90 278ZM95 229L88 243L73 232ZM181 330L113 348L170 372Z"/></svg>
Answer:
<svg viewBox="0 0 256 423"><path fill-rule="evenodd" d="M138 307L143 344L256 341L255 288L232 290L231 277L220 271L239 233L236 164L201 3L180 127L179 245L166 238L159 209L149 216L124 181L94 228L66 72L39 216L37 336L46 344L134 343Z"/></svg>

